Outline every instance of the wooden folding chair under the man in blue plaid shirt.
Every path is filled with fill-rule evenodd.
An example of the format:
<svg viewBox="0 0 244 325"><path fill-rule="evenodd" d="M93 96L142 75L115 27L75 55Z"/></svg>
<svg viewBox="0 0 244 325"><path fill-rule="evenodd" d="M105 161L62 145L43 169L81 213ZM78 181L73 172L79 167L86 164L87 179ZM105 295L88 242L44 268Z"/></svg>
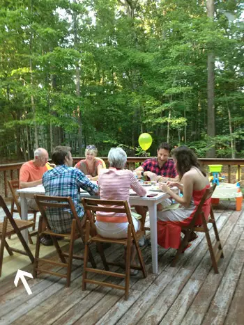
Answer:
<svg viewBox="0 0 244 325"><path fill-rule="evenodd" d="M40 273L47 273L47 274L52 274L54 276L60 276L61 278L66 278L66 287L70 286L70 277L71 277L71 269L72 269L72 262L73 258L77 260L84 260L84 257L82 255L75 255L73 253L73 248L74 248L74 241L78 238L82 238L82 241L84 242L84 230L82 229L82 224L85 223L85 217L84 221L82 223L79 220L79 217L77 216L77 212L75 210L75 205L73 203L73 200L70 197L62 197L62 196L39 196L36 195L34 196L36 199L36 203L40 209L40 220L39 220L39 225L38 225L38 235L37 235L37 241L36 241L36 255L35 255L35 262L34 262L34 267L33 267L33 277L36 278L37 274ZM57 209L70 209L72 212L73 216L73 221L71 225L71 231L70 233L66 234L59 234L56 232L53 232L49 226L47 216L45 213L46 208L57 208ZM42 231L42 226L43 226L43 221L46 222L47 224L47 230ZM54 242L54 246L56 248L56 252L59 255L59 258L61 262L56 262L52 260L46 260L43 258L39 257L40 253L40 236L41 235L50 235L52 238L52 241ZM69 251L68 253L65 253L61 250L61 247L59 246L59 243L56 239L56 237L66 237L70 241L70 246L69 246ZM91 255L91 251L88 252L89 254L89 260L94 268L96 268L96 263L93 260L93 256ZM66 257L68 257L68 262L66 262ZM67 272L66 274L61 274L58 272L54 271L49 271L48 269L43 269L39 267L39 262L48 262L49 264L53 264L55 266L59 267L66 267Z"/></svg>

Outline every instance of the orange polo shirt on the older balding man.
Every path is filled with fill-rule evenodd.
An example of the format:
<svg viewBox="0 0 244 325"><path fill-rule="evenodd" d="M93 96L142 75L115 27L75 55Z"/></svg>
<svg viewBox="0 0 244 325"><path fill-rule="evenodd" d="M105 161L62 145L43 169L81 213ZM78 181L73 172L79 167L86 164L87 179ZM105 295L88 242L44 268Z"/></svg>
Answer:
<svg viewBox="0 0 244 325"><path fill-rule="evenodd" d="M33 182L41 180L43 174L47 171L47 166L38 167L33 164L33 161L27 161L20 168L20 182Z"/></svg>

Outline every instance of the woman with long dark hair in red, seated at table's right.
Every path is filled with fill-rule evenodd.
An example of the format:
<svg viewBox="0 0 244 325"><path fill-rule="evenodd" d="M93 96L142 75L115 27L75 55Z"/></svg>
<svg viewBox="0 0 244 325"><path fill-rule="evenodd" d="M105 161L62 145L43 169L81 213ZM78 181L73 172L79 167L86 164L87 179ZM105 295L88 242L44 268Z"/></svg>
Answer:
<svg viewBox="0 0 244 325"><path fill-rule="evenodd" d="M171 198L180 204L177 209L168 209L158 212L158 244L164 248L176 248L181 244L181 227L186 226L192 220L197 207L207 188L210 187L208 176L201 169L194 152L186 146L178 147L174 150L172 157L176 165L176 170L180 181L160 184L162 191L168 193ZM178 187L183 191L180 197L170 187ZM204 203L203 212L206 218L210 213L211 198ZM201 225L201 219L197 221ZM190 235L189 241L197 238L195 232ZM185 247L190 247L190 244Z"/></svg>

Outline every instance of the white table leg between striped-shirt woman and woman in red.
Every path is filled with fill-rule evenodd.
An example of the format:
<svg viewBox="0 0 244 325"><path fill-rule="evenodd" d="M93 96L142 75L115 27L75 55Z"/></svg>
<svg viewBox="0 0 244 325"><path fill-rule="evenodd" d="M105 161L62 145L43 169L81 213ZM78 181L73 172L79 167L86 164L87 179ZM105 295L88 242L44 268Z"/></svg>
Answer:
<svg viewBox="0 0 244 325"><path fill-rule="evenodd" d="M153 273L158 274L158 233L157 233L157 205L148 207L150 219L151 250Z"/></svg>

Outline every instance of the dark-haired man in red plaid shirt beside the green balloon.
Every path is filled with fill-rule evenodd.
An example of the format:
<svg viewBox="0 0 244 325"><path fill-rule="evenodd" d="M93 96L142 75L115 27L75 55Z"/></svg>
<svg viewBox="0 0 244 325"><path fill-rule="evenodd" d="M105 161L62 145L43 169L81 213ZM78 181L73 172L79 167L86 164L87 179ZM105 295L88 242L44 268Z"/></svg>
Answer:
<svg viewBox="0 0 244 325"><path fill-rule="evenodd" d="M136 169L138 177L141 177L141 175L151 177L153 174L156 174L160 182L178 180L174 161L168 159L169 152L169 143L161 143L157 150L157 157L146 159L144 163Z"/></svg>

